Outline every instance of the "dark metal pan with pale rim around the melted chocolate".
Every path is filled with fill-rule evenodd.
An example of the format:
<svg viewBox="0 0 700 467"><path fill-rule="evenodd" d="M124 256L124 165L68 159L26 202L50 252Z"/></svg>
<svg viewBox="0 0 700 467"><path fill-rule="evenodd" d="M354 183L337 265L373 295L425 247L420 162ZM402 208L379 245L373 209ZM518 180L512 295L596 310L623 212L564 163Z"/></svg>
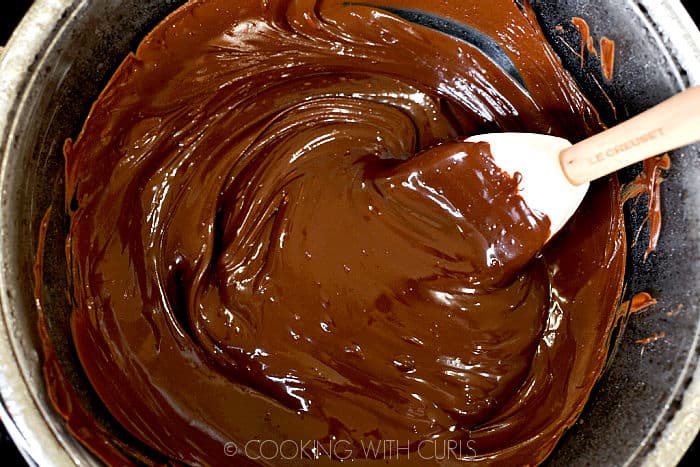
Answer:
<svg viewBox="0 0 700 467"><path fill-rule="evenodd" d="M63 141L78 134L124 56L181 3L37 0L0 62L0 416L33 464L97 463L48 401L36 330L32 265L41 218L53 206L44 284L49 325L70 379L99 416L99 402L69 344ZM556 39L554 27L581 16L597 37L616 41L616 76L605 87L620 119L700 83L700 33L678 0L532 4L565 65L601 109L608 108L602 93ZM695 146L672 155L657 252L644 262L644 242L630 249L628 294L650 291L658 304L627 322L607 372L548 461L552 465L672 465L698 432L699 151ZM620 176L624 181L632 173ZM628 232L636 232L644 219L627 214ZM636 342L661 330L666 338L651 346Z"/></svg>

